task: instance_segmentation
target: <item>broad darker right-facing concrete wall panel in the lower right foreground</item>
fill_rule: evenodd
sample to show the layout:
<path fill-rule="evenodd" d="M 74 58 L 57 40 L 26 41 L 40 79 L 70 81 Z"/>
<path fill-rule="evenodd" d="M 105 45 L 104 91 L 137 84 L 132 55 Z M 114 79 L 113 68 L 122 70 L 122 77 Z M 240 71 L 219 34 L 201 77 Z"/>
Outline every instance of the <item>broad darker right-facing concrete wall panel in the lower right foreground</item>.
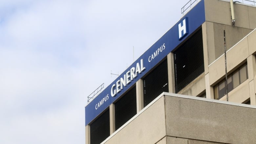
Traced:
<path fill-rule="evenodd" d="M 254 108 L 165 96 L 166 134 L 219 143 L 255 144 L 255 112 Z"/>

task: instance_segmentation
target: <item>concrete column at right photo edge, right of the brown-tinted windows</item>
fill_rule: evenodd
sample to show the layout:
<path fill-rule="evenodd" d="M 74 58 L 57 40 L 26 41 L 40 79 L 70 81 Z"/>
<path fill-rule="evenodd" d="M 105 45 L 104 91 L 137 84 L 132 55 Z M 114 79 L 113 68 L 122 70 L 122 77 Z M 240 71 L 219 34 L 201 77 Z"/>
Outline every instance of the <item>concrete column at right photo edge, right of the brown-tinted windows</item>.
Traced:
<path fill-rule="evenodd" d="M 256 95 L 255 95 L 255 82 L 254 77 L 256 75 L 256 58 L 255 55 L 250 55 L 247 58 L 247 70 L 249 79 L 249 90 L 250 90 L 250 101 L 251 105 L 256 105 Z"/>

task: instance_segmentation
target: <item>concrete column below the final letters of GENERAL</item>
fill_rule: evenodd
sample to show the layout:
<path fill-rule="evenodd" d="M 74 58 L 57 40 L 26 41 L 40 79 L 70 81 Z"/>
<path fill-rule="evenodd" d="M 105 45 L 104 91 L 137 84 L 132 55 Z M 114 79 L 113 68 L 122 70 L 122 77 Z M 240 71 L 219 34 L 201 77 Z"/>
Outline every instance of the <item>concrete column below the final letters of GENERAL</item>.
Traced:
<path fill-rule="evenodd" d="M 137 99 L 137 113 L 144 108 L 143 103 L 143 80 L 139 79 L 136 82 L 136 99 Z"/>

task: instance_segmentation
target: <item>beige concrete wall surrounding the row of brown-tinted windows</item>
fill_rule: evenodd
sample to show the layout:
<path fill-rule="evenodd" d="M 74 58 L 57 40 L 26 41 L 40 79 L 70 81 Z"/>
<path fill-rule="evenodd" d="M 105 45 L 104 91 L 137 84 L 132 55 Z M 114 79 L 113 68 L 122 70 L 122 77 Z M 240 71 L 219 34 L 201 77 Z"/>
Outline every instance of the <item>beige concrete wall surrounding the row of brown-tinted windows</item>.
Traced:
<path fill-rule="evenodd" d="M 229 101 L 243 103 L 245 100 L 250 98 L 252 100 L 251 104 L 256 104 L 255 96 L 255 76 L 256 76 L 256 31 L 251 32 L 248 36 L 243 38 L 239 43 L 233 46 L 227 51 L 227 72 L 228 74 L 235 71 L 242 64 L 247 62 L 248 67 L 248 79 L 245 80 L 238 87 L 229 92 Z M 210 89 L 216 85 L 219 81 L 224 79 L 225 76 L 225 61 L 224 55 L 219 57 L 214 63 L 209 67 L 209 85 Z M 253 92 L 254 91 L 254 92 Z M 211 92 L 211 90 L 206 90 L 206 92 Z M 211 94 L 212 95 L 212 94 Z M 226 96 L 222 97 L 220 100 L 226 100 Z"/>

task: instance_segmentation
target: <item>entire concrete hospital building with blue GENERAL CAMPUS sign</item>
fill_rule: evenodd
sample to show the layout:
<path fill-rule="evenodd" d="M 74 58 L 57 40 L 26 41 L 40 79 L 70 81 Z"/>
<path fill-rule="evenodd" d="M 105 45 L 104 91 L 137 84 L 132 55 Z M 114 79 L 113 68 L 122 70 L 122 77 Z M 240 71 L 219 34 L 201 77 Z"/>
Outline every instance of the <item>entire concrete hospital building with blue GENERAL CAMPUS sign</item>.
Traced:
<path fill-rule="evenodd" d="M 229 1 L 199 1 L 94 98 L 86 144 L 255 144 L 256 7 L 233 5 L 234 25 Z"/>

